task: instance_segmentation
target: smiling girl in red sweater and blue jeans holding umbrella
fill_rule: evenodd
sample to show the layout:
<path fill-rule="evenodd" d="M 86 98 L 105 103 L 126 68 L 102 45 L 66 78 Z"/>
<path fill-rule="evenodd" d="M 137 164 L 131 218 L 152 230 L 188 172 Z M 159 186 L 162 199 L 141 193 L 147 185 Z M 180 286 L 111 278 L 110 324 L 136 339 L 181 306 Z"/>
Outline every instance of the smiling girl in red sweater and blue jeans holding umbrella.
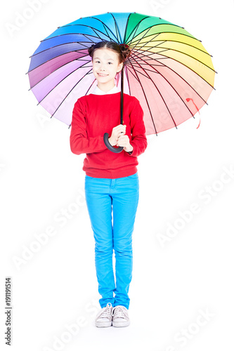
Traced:
<path fill-rule="evenodd" d="M 95 239 L 98 292 L 102 296 L 96 326 L 128 326 L 132 232 L 139 197 L 136 166 L 137 157 L 148 143 L 143 110 L 134 96 L 124 93 L 125 124 L 119 124 L 121 93 L 115 77 L 131 55 L 129 47 L 100 41 L 89 48 L 89 55 L 97 86 L 74 104 L 70 147 L 74 154 L 86 154 L 82 168 L 86 172 L 85 197 Z M 105 146 L 104 133 L 110 135 L 110 145 L 124 147 L 122 152 L 112 152 Z"/>

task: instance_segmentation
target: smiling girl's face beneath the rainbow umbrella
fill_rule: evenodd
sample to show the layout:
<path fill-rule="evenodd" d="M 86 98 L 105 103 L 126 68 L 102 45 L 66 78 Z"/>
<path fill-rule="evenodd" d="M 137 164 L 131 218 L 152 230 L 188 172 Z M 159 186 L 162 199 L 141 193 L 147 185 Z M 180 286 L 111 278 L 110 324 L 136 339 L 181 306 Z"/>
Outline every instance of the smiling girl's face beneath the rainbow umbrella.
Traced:
<path fill-rule="evenodd" d="M 93 52 L 93 74 L 99 86 L 115 84 L 115 76 L 121 71 L 123 62 L 119 63 L 118 54 L 110 48 L 96 48 Z"/>

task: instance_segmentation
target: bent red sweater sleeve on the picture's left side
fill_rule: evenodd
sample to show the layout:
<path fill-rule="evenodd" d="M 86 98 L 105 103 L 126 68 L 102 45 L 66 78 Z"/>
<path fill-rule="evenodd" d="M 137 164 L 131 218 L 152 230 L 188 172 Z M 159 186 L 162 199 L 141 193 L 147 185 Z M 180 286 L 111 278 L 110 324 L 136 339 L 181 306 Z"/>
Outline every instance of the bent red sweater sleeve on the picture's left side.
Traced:
<path fill-rule="evenodd" d="M 84 107 L 78 99 L 72 111 L 70 148 L 73 154 L 90 154 L 106 150 L 103 136 L 87 137 Z"/>

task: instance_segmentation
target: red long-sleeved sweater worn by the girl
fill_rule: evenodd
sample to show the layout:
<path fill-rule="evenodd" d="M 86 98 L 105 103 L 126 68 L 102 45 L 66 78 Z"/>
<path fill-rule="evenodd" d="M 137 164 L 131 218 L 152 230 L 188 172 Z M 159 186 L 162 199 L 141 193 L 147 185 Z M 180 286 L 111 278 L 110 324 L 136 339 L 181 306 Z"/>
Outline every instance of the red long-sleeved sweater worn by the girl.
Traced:
<path fill-rule="evenodd" d="M 112 133 L 120 124 L 120 92 L 84 95 L 74 104 L 70 133 L 70 147 L 74 154 L 86 153 L 83 171 L 94 178 L 121 178 L 137 172 L 137 157 L 148 143 L 145 136 L 143 110 L 134 96 L 124 93 L 123 124 L 134 148 L 129 154 L 112 152 L 105 146 L 103 135 Z M 116 147 L 116 145 L 115 145 Z"/>

